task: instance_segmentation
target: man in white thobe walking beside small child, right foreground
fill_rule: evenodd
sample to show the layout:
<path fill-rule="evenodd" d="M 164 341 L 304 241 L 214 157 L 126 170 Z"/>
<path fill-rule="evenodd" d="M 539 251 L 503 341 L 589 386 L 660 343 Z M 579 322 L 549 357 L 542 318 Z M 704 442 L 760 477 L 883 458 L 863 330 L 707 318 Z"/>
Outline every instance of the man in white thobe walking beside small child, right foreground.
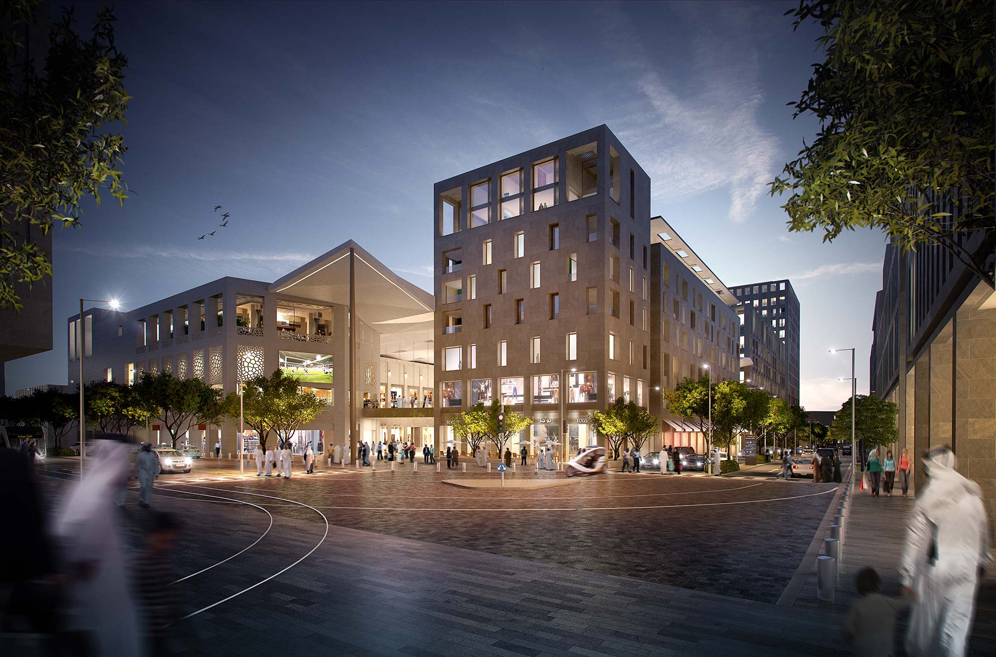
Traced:
<path fill-rule="evenodd" d="M 911 657 L 962 657 L 979 579 L 989 563 L 989 527 L 980 489 L 957 472 L 944 447 L 923 457 L 928 481 L 917 495 L 899 580 L 916 593 L 906 633 Z"/>

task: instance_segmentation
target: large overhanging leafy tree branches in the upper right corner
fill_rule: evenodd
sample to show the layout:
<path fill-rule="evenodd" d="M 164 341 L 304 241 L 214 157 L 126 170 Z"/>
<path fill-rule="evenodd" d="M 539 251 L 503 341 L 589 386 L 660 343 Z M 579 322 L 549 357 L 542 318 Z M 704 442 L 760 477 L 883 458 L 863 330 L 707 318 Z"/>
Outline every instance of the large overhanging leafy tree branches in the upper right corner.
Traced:
<path fill-rule="evenodd" d="M 789 230 L 878 228 L 903 250 L 942 247 L 993 287 L 978 255 L 996 237 L 992 3 L 802 0 L 787 13 L 823 26 L 826 53 L 789 104 L 820 131 L 771 183 L 791 193 Z M 977 230 L 988 246 L 972 252 Z"/>

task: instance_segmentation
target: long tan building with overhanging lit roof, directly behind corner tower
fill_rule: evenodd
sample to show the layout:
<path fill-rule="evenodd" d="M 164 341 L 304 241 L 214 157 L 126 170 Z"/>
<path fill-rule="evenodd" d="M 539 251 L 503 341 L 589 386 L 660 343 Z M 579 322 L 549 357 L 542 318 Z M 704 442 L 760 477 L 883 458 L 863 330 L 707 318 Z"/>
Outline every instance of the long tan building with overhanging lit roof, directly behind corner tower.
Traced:
<path fill-rule="evenodd" d="M 691 445 L 701 452 L 707 448 L 702 427 L 669 413 L 662 392 L 685 378 L 737 377 L 736 300 L 661 217 L 650 220 L 650 242 L 650 412 L 661 418 L 661 431 L 648 449 Z"/>

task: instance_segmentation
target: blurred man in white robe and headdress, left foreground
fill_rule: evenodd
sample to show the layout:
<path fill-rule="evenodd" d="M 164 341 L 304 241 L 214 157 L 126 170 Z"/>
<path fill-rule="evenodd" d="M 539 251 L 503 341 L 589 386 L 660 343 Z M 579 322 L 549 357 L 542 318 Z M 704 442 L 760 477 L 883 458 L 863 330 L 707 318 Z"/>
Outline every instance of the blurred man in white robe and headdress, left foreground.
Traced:
<path fill-rule="evenodd" d="M 115 505 L 128 470 L 124 442 L 99 440 L 93 464 L 56 525 L 69 559 L 69 626 L 90 633 L 101 657 L 140 654 Z"/>

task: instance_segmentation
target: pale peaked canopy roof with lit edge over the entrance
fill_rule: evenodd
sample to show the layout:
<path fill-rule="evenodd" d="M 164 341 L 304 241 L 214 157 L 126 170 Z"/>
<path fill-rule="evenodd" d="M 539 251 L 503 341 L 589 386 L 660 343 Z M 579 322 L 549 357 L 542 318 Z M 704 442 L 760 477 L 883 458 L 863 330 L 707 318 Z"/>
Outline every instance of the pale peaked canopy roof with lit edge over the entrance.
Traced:
<path fill-rule="evenodd" d="M 350 250 L 356 277 L 356 314 L 380 333 L 380 352 L 432 362 L 432 295 L 394 274 L 350 240 L 299 267 L 270 291 L 331 304 L 350 304 Z"/>

